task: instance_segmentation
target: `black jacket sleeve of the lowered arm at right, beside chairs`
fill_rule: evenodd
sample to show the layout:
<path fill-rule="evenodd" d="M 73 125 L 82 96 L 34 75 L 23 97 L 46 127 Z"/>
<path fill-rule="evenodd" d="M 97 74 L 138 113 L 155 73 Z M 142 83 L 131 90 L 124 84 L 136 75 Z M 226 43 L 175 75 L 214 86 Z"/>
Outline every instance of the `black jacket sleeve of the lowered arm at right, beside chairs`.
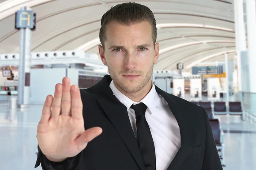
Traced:
<path fill-rule="evenodd" d="M 223 170 L 218 150 L 214 141 L 212 127 L 209 122 L 209 117 L 204 108 L 205 123 L 206 123 L 206 140 L 204 149 L 204 161 L 202 170 Z"/>

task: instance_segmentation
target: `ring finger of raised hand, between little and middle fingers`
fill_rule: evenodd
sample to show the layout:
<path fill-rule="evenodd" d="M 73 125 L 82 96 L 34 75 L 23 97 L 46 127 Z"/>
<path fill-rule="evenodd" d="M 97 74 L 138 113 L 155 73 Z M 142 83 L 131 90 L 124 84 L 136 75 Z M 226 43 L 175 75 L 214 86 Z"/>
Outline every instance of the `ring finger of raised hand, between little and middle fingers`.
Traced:
<path fill-rule="evenodd" d="M 62 84 L 55 85 L 54 97 L 52 102 L 52 118 L 56 118 L 61 113 Z"/>

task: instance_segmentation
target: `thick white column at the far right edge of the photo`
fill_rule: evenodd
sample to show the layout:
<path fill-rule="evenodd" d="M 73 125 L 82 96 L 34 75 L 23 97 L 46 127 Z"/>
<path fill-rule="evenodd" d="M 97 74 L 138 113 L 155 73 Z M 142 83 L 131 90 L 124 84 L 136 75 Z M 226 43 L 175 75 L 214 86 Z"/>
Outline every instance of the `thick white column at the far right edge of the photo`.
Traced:
<path fill-rule="evenodd" d="M 247 42 L 250 93 L 256 93 L 256 4 L 255 0 L 246 0 Z"/>

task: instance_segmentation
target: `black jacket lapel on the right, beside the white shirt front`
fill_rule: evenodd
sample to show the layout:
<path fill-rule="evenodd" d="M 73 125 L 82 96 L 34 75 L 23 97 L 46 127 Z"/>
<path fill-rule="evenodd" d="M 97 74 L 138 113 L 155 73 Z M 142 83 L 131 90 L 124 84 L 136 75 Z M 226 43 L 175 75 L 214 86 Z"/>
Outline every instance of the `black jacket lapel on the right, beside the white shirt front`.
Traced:
<path fill-rule="evenodd" d="M 174 99 L 171 98 L 169 94 L 167 94 L 165 91 L 162 91 L 157 86 L 156 91 L 166 100 L 180 127 L 181 147 L 167 169 L 178 170 L 192 149 L 193 127 L 191 122 L 189 122 L 189 118 L 183 114 L 186 111 L 184 111 L 182 105 L 178 104 Z"/>

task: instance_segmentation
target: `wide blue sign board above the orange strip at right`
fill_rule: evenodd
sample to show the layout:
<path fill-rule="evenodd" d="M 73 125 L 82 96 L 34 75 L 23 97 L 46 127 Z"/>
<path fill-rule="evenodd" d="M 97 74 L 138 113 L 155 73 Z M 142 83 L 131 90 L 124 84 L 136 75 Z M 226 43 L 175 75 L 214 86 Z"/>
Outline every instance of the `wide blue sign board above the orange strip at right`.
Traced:
<path fill-rule="evenodd" d="M 192 67 L 192 74 L 223 74 L 223 67 L 222 65 Z"/>

